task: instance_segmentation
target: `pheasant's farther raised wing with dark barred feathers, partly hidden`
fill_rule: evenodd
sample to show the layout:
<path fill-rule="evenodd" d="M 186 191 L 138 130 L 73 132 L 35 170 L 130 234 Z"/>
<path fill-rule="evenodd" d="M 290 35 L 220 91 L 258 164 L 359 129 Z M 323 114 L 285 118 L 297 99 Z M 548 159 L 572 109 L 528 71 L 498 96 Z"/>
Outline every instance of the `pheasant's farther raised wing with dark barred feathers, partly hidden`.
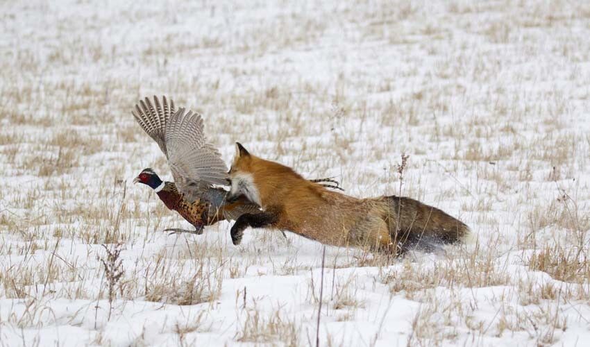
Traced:
<path fill-rule="evenodd" d="M 174 101 L 170 100 L 168 103 L 166 96 L 162 96 L 162 103 L 156 96 L 153 96 L 153 104 L 149 98 L 146 98 L 145 101 L 140 100 L 140 103 L 135 105 L 135 110 L 132 111 L 137 123 L 160 146 L 166 158 L 168 158 L 166 126 L 168 119 L 175 112 Z"/>

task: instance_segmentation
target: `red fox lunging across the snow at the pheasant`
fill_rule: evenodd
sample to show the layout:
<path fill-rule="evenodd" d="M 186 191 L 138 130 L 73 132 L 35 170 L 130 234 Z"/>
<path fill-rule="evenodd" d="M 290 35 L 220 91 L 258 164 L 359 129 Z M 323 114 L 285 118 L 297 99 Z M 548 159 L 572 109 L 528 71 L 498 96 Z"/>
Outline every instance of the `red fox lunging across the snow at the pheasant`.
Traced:
<path fill-rule="evenodd" d="M 401 196 L 355 198 L 330 191 L 283 164 L 251 155 L 239 143 L 229 175 L 228 200 L 246 196 L 263 211 L 237 218 L 231 228 L 236 245 L 248 226 L 395 254 L 416 246 L 457 242 L 469 235 L 462 221 L 437 208 Z"/>

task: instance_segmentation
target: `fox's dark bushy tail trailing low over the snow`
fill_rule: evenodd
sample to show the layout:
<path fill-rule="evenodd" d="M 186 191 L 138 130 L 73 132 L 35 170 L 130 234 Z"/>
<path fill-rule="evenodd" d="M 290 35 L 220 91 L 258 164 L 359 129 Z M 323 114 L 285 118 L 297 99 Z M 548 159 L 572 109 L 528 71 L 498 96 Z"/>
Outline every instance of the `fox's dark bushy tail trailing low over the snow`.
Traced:
<path fill-rule="evenodd" d="M 404 196 L 387 196 L 387 201 L 389 232 L 402 249 L 433 250 L 438 244 L 457 242 L 469 235 L 465 223 L 438 208 Z"/>

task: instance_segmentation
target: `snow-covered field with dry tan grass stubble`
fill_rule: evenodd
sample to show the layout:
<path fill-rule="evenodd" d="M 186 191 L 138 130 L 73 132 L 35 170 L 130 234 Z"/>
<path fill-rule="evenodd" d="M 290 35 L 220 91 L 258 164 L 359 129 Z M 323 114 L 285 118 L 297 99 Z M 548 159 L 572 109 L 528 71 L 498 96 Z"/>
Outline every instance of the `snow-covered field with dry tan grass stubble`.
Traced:
<path fill-rule="evenodd" d="M 315 345 L 320 302 L 321 346 L 588 343 L 587 1 L 2 1 L 0 19 L 0 345 Z M 226 162 L 239 141 L 354 196 L 401 189 L 474 240 L 328 247 L 322 270 L 289 233 L 169 237 L 187 223 L 130 184 L 171 179 L 130 114 L 153 94 L 202 112 Z"/>

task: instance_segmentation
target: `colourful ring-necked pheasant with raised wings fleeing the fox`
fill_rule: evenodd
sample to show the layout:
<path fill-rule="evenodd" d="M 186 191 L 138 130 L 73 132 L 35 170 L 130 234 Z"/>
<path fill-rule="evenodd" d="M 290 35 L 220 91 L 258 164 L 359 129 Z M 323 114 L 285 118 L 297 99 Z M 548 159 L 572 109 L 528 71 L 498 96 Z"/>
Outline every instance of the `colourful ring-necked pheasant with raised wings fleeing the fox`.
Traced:
<path fill-rule="evenodd" d="M 160 146 L 166 156 L 173 182 L 165 182 L 151 168 L 146 168 L 133 180 L 153 189 L 169 210 L 174 210 L 194 226 L 194 230 L 169 228 L 171 234 L 203 233 L 224 219 L 235 220 L 244 213 L 256 214 L 260 208 L 244 196 L 228 202 L 229 194 L 223 187 L 229 185 L 225 162 L 217 149 L 209 144 L 203 132 L 203 118 L 199 113 L 174 108 L 174 101 L 154 96 L 135 105 L 133 117 L 142 129 Z M 313 180 L 326 187 L 342 189 L 332 178 Z"/>

